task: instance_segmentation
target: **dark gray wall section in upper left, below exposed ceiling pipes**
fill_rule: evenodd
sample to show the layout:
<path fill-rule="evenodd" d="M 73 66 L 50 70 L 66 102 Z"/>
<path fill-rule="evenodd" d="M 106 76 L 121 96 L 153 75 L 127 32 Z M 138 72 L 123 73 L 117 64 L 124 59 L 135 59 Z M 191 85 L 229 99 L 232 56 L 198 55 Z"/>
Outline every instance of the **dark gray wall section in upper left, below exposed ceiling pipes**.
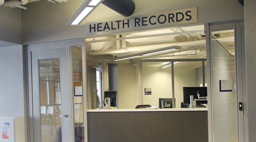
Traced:
<path fill-rule="evenodd" d="M 0 13 L 0 40 L 22 44 L 22 10 L 3 5 Z"/>

